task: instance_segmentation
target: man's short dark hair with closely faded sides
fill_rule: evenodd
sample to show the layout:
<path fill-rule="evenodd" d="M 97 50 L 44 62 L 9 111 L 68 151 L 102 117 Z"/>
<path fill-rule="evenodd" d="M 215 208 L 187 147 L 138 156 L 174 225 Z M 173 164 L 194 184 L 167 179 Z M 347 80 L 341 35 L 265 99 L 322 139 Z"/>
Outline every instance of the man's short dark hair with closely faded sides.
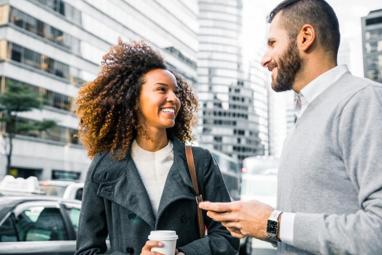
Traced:
<path fill-rule="evenodd" d="M 336 13 L 328 3 L 324 0 L 285 0 L 269 13 L 267 22 L 272 22 L 280 11 L 281 26 L 290 38 L 296 38 L 303 25 L 310 24 L 322 48 L 337 60 L 340 27 Z"/>

